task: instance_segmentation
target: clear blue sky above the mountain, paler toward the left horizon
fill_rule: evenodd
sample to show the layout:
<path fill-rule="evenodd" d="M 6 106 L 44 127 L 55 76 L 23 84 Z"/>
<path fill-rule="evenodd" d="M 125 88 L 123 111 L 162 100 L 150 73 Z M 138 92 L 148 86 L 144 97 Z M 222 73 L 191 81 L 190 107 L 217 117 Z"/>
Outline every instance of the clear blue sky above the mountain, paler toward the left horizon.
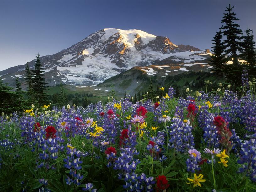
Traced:
<path fill-rule="evenodd" d="M 256 34 L 256 0 L 0 0 L 0 70 L 38 52 L 57 53 L 103 28 L 139 29 L 208 49 L 229 3 L 241 29 Z"/>

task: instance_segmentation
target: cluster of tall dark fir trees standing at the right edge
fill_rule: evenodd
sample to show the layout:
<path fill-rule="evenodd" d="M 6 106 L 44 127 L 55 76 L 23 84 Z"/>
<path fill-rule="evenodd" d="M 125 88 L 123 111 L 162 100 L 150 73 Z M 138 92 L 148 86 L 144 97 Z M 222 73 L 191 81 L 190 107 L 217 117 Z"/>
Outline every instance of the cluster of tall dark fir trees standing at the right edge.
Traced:
<path fill-rule="evenodd" d="M 236 13 L 229 4 L 213 41 L 212 72 L 226 79 L 233 90 L 242 86 L 242 73 L 249 77 L 256 74 L 256 49 L 253 32 L 249 27 L 243 31 L 236 22 Z"/>

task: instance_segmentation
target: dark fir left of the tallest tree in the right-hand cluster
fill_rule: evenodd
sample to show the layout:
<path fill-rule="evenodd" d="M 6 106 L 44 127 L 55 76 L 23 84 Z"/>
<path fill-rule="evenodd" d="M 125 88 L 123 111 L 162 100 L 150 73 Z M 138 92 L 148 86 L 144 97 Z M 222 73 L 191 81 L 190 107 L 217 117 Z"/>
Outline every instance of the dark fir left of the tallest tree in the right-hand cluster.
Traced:
<path fill-rule="evenodd" d="M 222 27 L 221 27 L 222 28 Z M 212 63 L 211 65 L 213 66 L 213 68 L 211 68 L 211 71 L 212 72 L 215 72 L 216 75 L 218 76 L 222 76 L 223 75 L 223 69 L 224 69 L 224 65 L 225 65 L 225 62 L 224 62 L 224 45 L 223 43 L 221 42 L 221 39 L 222 39 L 222 32 L 221 32 L 221 28 L 220 30 L 216 33 L 216 35 L 214 36 L 213 38 L 213 50 L 212 50 L 212 56 L 211 56 L 211 59 L 212 59 Z"/>

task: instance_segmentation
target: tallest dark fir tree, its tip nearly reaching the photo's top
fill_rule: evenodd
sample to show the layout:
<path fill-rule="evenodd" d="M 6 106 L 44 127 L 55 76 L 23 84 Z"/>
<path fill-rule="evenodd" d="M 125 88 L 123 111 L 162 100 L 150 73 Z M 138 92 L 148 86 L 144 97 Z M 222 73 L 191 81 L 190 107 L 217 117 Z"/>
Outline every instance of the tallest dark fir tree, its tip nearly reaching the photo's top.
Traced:
<path fill-rule="evenodd" d="M 226 23 L 226 25 L 222 28 L 224 29 L 223 34 L 226 36 L 224 40 L 225 54 L 227 56 L 226 60 L 233 61 L 234 65 L 239 65 L 238 57 L 242 53 L 242 36 L 243 32 L 241 29 L 238 29 L 240 25 L 235 23 L 239 19 L 236 18 L 236 13 L 232 12 L 233 7 L 226 7 L 227 13 L 224 13 L 223 19 L 221 23 Z"/>

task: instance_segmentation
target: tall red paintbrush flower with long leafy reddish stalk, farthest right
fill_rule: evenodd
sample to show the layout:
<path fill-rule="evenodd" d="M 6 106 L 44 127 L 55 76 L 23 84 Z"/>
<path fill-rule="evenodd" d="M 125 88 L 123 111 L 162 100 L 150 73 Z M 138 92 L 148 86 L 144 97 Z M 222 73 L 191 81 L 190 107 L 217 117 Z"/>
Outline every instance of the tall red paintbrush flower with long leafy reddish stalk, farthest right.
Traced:
<path fill-rule="evenodd" d="M 228 122 L 221 116 L 214 117 L 213 124 L 216 126 L 216 130 L 218 131 L 218 135 L 220 137 L 219 142 L 226 149 L 227 153 L 232 149 L 232 144 L 230 138 L 232 137 L 232 133 L 229 130 Z"/>

